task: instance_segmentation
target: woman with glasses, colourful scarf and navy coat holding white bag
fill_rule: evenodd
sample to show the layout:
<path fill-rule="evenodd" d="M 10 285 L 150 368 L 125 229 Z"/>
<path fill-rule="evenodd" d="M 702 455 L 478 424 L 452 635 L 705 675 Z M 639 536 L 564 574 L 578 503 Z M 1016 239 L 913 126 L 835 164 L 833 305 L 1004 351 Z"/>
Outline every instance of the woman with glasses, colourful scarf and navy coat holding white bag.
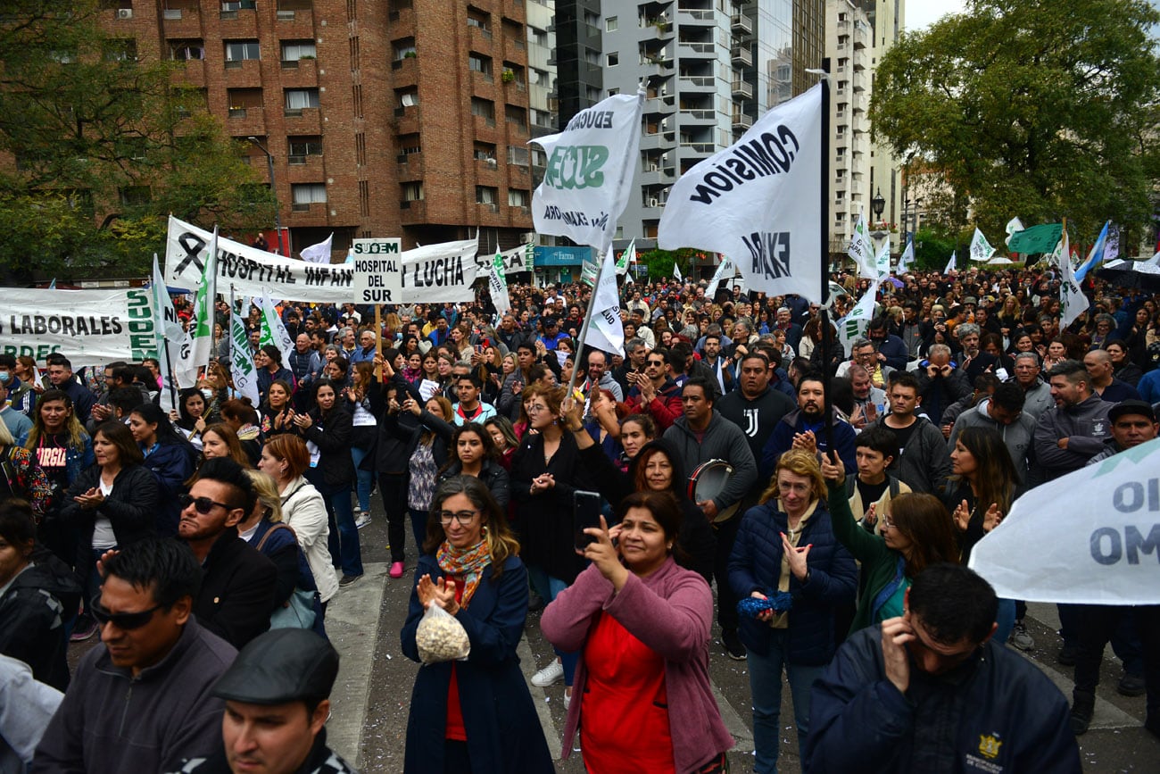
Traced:
<path fill-rule="evenodd" d="M 479 478 L 440 484 L 400 639 L 418 661 L 427 608 L 463 625 L 471 654 L 419 670 L 407 718 L 405 774 L 550 774 L 556 771 L 520 670 L 528 572 L 502 508 Z"/>

